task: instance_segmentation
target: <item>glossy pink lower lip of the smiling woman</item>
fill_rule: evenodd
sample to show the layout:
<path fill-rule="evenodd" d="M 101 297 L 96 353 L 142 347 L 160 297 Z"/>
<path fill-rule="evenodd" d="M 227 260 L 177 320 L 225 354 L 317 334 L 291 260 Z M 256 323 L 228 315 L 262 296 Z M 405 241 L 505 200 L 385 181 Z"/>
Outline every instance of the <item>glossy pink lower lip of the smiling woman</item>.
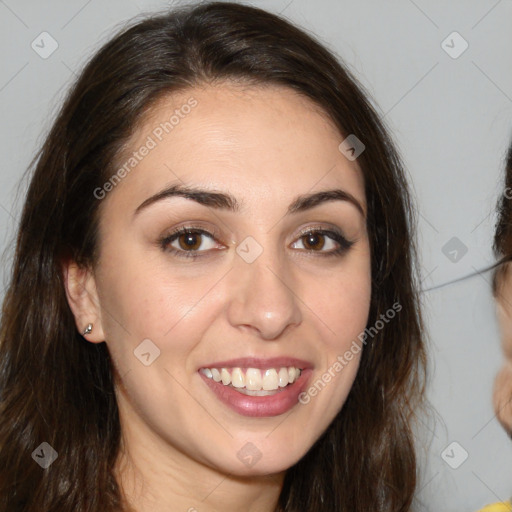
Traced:
<path fill-rule="evenodd" d="M 249 396 L 236 391 L 231 386 L 224 386 L 222 382 L 215 382 L 199 372 L 205 383 L 215 393 L 217 398 L 238 414 L 243 416 L 266 417 L 279 416 L 288 412 L 299 403 L 299 395 L 306 387 L 311 369 L 302 370 L 300 377 L 288 384 L 282 391 L 268 396 Z"/>

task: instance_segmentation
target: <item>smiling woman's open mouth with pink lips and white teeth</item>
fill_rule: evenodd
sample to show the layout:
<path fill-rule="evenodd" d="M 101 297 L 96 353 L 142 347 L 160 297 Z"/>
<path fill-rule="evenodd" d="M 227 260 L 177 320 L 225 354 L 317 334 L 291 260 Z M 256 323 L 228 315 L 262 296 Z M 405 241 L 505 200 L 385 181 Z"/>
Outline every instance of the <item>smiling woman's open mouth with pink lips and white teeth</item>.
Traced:
<path fill-rule="evenodd" d="M 241 358 L 199 368 L 214 395 L 243 416 L 277 416 L 299 403 L 312 365 L 295 358 Z"/>

